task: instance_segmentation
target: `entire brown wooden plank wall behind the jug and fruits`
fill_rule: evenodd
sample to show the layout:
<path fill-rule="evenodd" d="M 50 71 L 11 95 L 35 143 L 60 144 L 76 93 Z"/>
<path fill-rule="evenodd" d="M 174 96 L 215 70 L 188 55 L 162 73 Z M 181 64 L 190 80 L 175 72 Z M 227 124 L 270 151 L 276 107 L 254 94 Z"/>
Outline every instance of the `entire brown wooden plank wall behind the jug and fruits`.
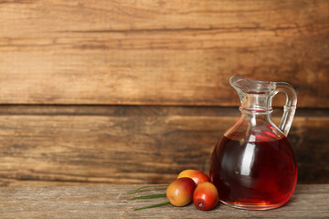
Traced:
<path fill-rule="evenodd" d="M 328 11 L 321 0 L 0 0 L 0 186 L 207 172 L 239 116 L 231 75 L 292 84 L 299 182 L 329 183 Z"/>

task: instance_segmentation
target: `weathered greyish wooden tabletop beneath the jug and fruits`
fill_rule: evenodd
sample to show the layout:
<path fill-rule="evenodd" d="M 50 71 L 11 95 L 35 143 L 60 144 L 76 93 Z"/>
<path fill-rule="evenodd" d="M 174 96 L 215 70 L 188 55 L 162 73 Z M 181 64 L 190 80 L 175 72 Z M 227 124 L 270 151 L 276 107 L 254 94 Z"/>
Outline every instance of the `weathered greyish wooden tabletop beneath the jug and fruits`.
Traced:
<path fill-rule="evenodd" d="M 133 211 L 166 201 L 166 198 L 130 201 L 134 196 L 165 191 L 163 187 L 129 194 L 139 186 L 1 188 L 0 218 L 329 218 L 329 184 L 297 185 L 292 199 L 279 209 L 247 211 L 219 204 L 208 212 L 196 210 L 193 204 Z"/>

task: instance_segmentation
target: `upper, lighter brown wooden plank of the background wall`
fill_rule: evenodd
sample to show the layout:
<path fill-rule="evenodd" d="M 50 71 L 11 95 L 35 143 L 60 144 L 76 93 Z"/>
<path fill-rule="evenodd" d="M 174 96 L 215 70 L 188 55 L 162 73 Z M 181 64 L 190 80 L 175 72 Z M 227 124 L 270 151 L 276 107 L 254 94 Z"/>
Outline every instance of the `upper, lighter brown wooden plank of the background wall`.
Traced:
<path fill-rule="evenodd" d="M 328 108 L 329 3 L 0 1 L 0 103 L 238 105 L 231 75 Z"/>

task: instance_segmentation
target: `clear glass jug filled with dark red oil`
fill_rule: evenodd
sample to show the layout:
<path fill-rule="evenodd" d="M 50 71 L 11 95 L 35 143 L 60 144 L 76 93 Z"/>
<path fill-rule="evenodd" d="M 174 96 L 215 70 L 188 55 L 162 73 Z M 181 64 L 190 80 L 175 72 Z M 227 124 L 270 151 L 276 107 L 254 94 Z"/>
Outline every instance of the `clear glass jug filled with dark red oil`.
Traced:
<path fill-rule="evenodd" d="M 233 76 L 241 116 L 218 141 L 211 155 L 210 181 L 219 200 L 242 209 L 266 210 L 287 203 L 297 183 L 297 164 L 286 136 L 292 125 L 297 95 L 284 82 Z M 271 100 L 278 93 L 287 101 L 279 128 L 271 120 Z"/>

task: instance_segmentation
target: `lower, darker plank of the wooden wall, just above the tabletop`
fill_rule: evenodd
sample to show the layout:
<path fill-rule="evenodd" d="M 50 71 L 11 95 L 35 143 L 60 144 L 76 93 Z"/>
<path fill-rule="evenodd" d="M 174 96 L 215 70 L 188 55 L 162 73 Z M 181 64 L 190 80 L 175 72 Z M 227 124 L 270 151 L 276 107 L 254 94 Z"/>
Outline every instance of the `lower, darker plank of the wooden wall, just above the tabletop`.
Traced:
<path fill-rule="evenodd" d="M 208 172 L 210 152 L 239 115 L 200 107 L 52 108 L 0 110 L 1 186 L 168 183 L 184 169 Z M 299 183 L 329 183 L 324 112 L 302 112 L 292 124 Z"/>

